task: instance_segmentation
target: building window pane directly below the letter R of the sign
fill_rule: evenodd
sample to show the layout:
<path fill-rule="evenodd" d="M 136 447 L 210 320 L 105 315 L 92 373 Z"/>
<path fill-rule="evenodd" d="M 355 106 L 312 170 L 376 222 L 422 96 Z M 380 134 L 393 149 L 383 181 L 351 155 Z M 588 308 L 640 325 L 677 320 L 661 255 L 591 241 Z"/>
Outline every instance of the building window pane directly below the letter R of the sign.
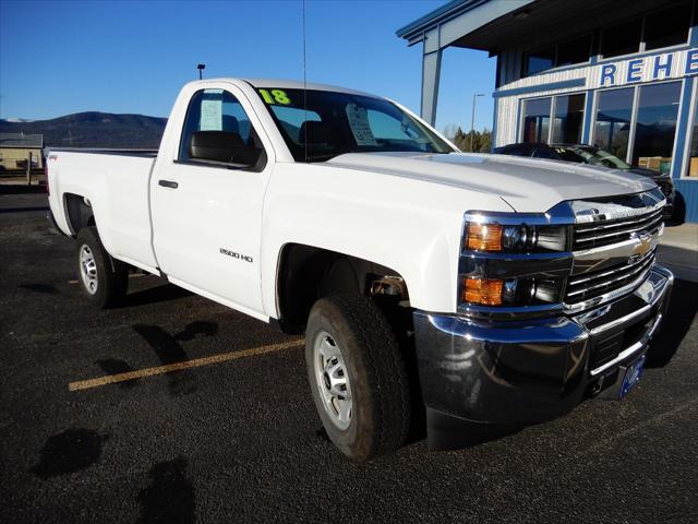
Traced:
<path fill-rule="evenodd" d="M 599 92 L 593 143 L 618 158 L 627 158 L 630 119 L 633 118 L 633 87 Z"/>

